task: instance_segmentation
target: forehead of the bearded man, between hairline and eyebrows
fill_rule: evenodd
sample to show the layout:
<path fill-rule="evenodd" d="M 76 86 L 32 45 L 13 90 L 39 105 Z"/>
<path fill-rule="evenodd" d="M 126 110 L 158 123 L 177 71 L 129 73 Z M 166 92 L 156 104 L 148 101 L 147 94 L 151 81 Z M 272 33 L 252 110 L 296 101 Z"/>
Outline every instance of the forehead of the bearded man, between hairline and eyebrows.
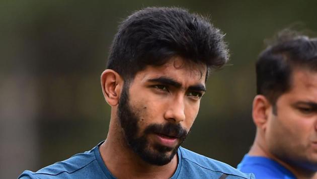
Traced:
<path fill-rule="evenodd" d="M 173 57 L 161 66 L 146 66 L 144 70 L 136 73 L 136 78 L 151 78 L 166 76 L 174 79 L 192 79 L 205 81 L 207 67 L 205 64 L 197 64 L 182 57 Z"/>

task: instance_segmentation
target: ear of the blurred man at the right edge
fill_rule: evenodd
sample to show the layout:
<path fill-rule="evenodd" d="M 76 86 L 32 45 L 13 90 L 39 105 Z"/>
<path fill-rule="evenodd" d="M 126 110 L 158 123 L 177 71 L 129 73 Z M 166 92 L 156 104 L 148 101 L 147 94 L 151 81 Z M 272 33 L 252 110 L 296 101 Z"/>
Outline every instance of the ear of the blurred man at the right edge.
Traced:
<path fill-rule="evenodd" d="M 263 95 L 257 95 L 253 100 L 252 117 L 258 129 L 266 130 L 271 103 Z"/>

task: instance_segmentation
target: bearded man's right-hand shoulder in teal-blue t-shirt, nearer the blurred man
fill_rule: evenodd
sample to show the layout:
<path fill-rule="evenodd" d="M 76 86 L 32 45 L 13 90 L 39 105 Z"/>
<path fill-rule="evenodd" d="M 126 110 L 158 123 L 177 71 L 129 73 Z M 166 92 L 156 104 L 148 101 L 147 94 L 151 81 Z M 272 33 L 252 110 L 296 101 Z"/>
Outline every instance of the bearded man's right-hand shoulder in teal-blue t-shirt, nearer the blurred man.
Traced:
<path fill-rule="evenodd" d="M 232 166 L 193 151 L 180 147 L 182 167 L 187 171 L 205 173 L 208 176 L 227 175 L 227 178 L 254 178 L 253 174 L 243 173 Z"/>

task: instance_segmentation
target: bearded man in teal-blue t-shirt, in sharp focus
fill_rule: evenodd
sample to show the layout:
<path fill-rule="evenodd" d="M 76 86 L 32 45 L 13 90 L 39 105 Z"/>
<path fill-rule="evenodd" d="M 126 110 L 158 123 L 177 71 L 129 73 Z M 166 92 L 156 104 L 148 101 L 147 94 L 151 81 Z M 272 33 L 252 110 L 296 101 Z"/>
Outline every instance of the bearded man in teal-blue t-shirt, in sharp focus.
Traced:
<path fill-rule="evenodd" d="M 111 106 L 107 139 L 21 178 L 252 178 L 180 147 L 210 68 L 228 58 L 223 35 L 178 8 L 145 8 L 119 27 L 101 75 Z"/>

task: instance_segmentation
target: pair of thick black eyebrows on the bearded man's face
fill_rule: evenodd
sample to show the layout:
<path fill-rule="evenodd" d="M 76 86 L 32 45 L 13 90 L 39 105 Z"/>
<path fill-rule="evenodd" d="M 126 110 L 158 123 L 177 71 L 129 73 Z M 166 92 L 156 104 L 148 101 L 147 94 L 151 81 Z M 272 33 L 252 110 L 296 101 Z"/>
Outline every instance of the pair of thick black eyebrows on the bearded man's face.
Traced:
<path fill-rule="evenodd" d="M 182 84 L 172 78 L 169 77 L 158 77 L 158 78 L 152 78 L 152 79 L 148 79 L 147 81 L 150 82 L 159 82 L 165 85 L 170 85 L 170 86 L 174 86 L 176 88 L 181 88 Z M 190 91 L 202 91 L 205 92 L 206 91 L 206 87 L 203 84 L 195 84 L 195 85 L 191 85 L 188 87 L 188 90 Z"/>

